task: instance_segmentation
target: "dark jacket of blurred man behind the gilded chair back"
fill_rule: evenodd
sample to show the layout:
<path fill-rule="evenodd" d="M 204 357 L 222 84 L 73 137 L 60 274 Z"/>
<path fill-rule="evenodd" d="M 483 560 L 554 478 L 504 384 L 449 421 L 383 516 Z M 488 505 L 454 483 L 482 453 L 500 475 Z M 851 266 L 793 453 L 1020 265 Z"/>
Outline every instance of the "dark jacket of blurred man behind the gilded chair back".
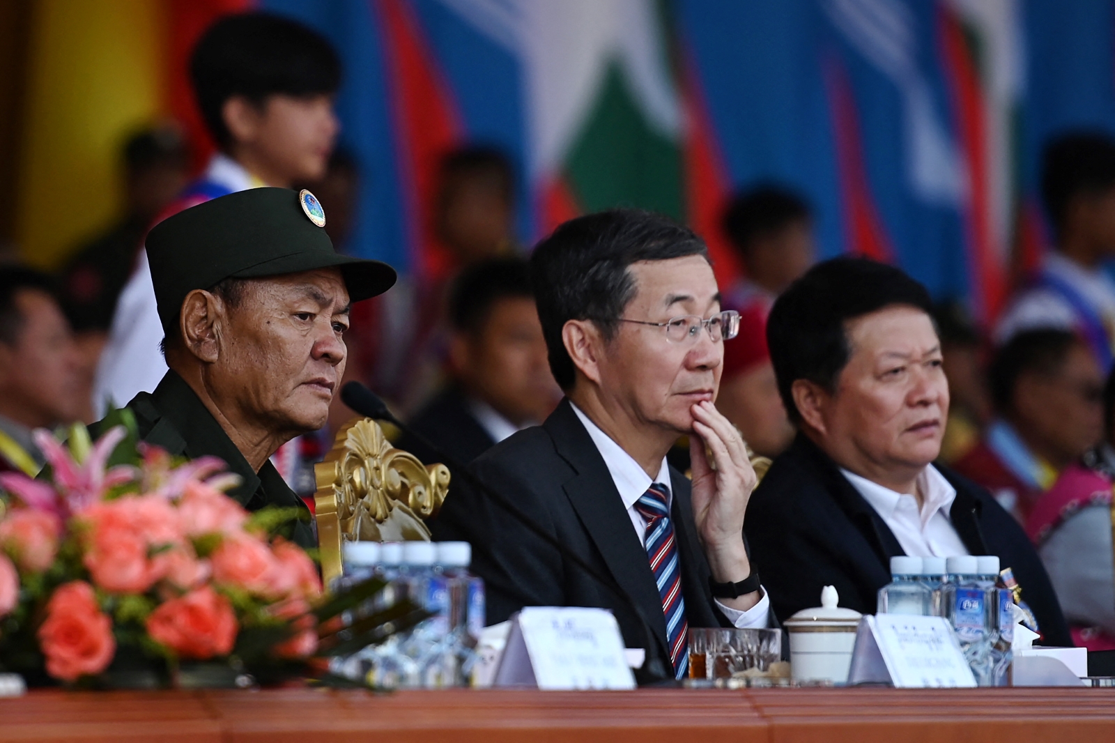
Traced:
<path fill-rule="evenodd" d="M 473 417 L 464 394 L 456 387 L 435 395 L 419 408 L 408 425 L 463 464 L 468 464 L 495 444 L 484 426 Z M 396 446 L 410 452 L 423 464 L 434 464 L 443 459 L 407 434 L 396 442 Z"/>

